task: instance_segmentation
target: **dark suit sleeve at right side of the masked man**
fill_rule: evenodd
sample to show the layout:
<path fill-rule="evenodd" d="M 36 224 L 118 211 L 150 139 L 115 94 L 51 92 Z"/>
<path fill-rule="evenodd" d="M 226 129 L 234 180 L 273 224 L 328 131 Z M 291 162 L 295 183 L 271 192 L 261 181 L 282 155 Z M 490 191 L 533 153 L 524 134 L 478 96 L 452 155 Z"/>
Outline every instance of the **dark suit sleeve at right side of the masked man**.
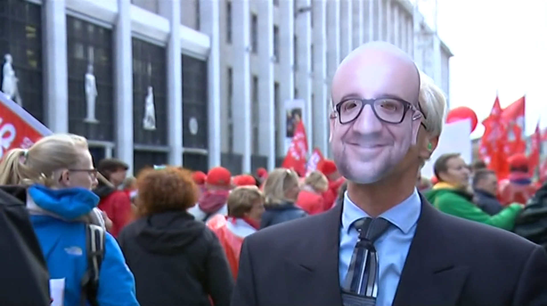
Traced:
<path fill-rule="evenodd" d="M 537 246 L 531 252 L 515 290 L 513 306 L 547 305 L 547 252 Z"/>

